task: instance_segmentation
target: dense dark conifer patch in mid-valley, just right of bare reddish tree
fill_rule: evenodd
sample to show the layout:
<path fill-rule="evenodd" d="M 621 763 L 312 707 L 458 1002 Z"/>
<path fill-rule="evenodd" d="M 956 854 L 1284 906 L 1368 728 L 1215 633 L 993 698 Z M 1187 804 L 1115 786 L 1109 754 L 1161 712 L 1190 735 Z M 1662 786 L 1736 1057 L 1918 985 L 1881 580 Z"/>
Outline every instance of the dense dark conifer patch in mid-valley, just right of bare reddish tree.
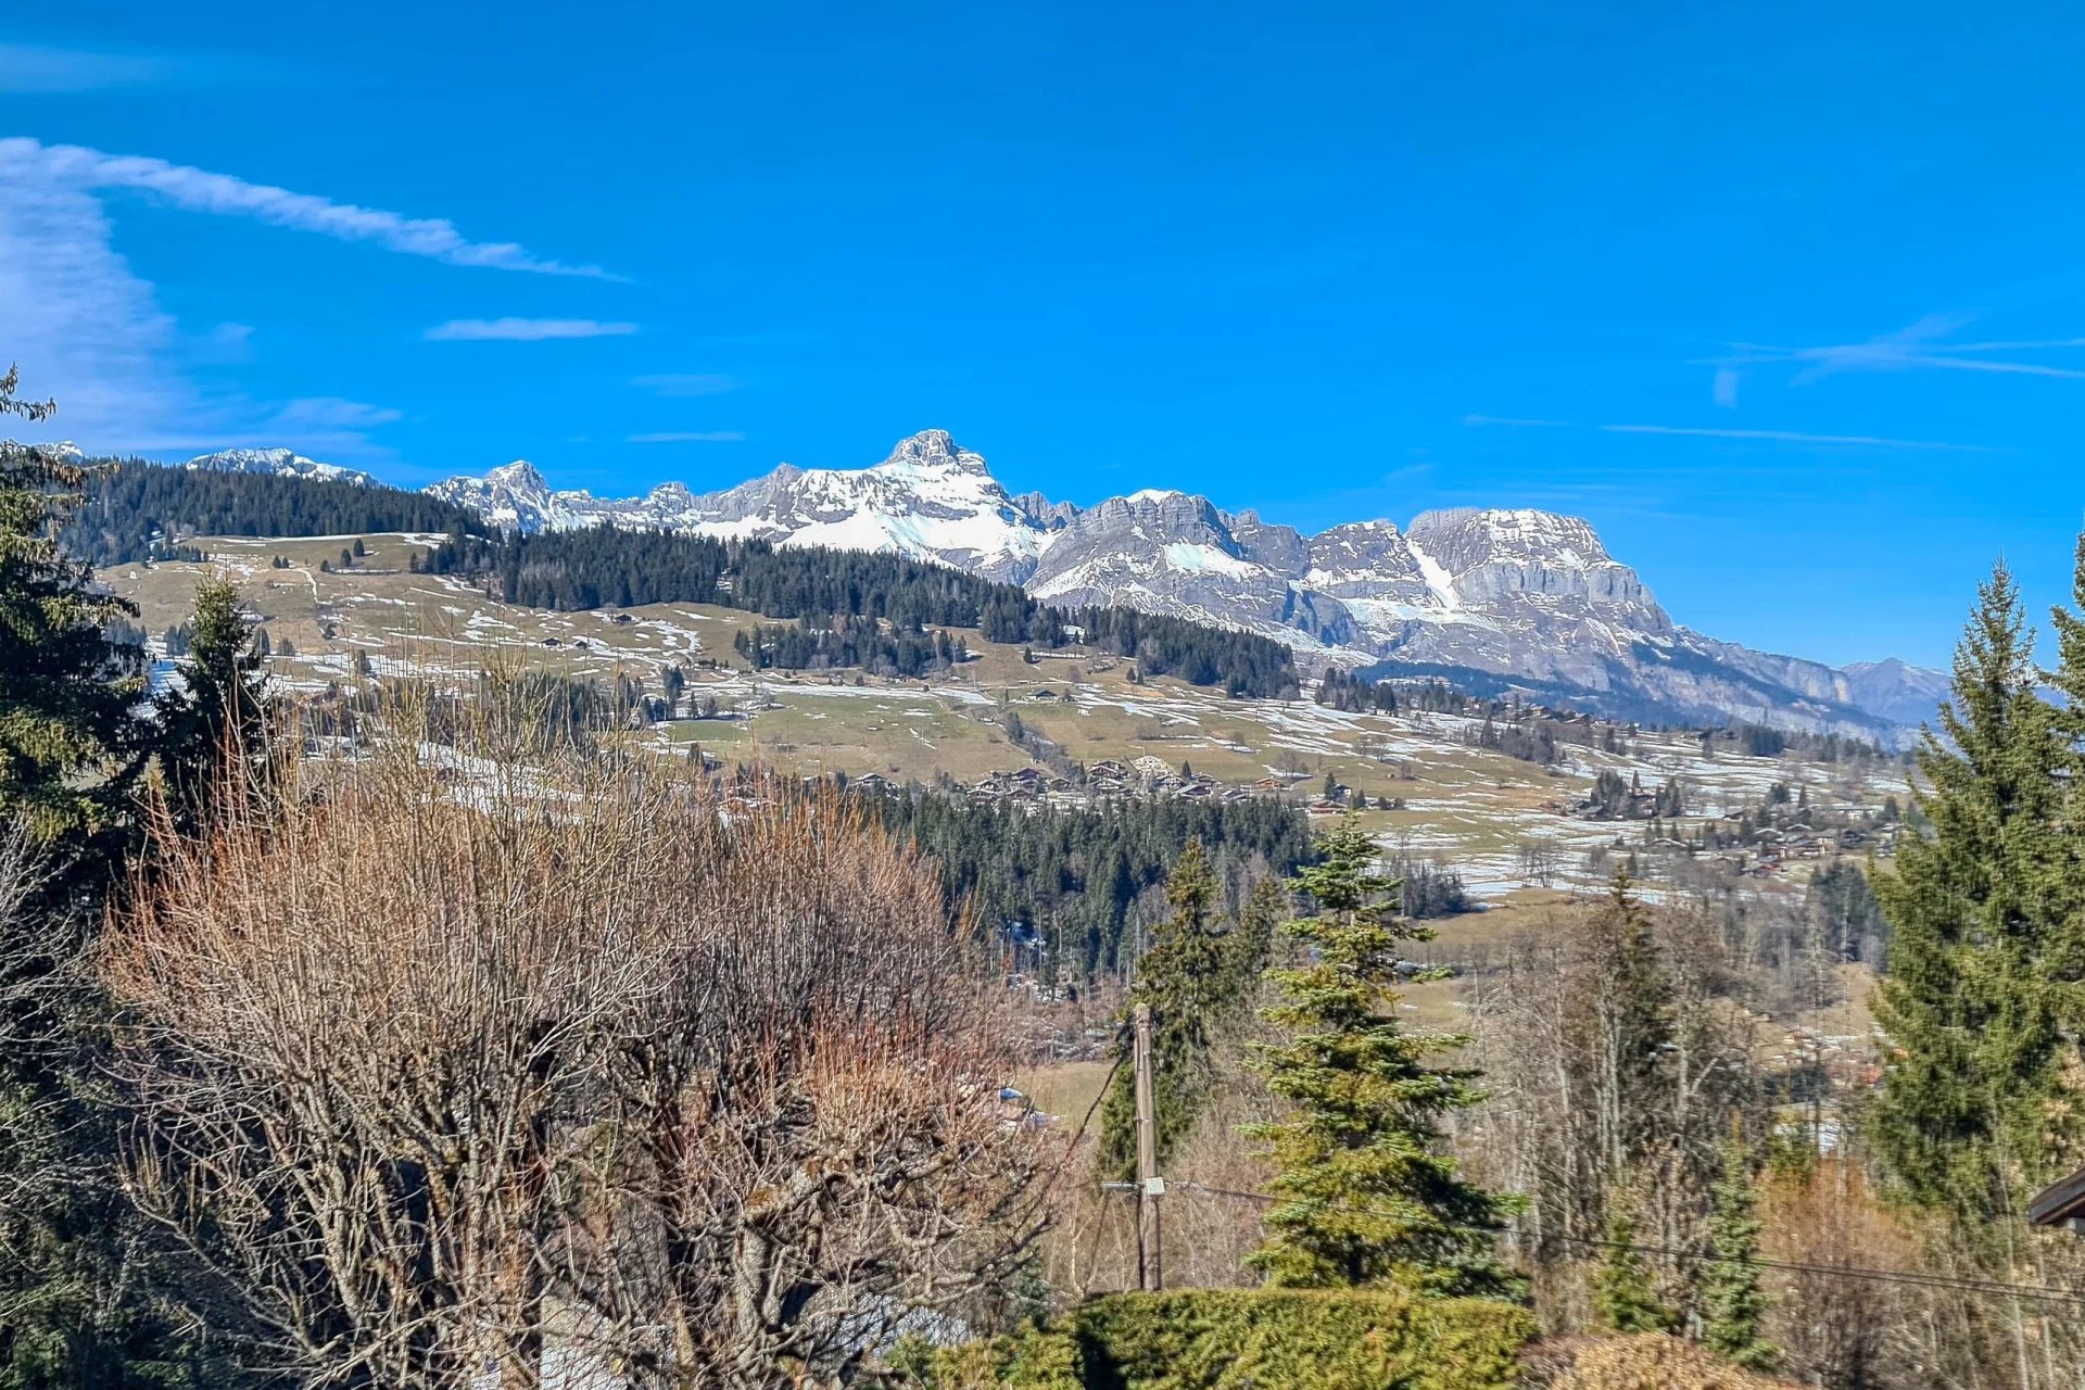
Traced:
<path fill-rule="evenodd" d="M 909 788 L 865 800 L 878 821 L 940 863 L 951 898 L 992 932 L 1038 938 L 1045 971 L 1065 979 L 1134 961 L 1138 934 L 1163 915 L 1157 890 L 1191 840 L 1232 888 L 1309 861 L 1305 815 L 1270 798 L 1030 811 Z"/>

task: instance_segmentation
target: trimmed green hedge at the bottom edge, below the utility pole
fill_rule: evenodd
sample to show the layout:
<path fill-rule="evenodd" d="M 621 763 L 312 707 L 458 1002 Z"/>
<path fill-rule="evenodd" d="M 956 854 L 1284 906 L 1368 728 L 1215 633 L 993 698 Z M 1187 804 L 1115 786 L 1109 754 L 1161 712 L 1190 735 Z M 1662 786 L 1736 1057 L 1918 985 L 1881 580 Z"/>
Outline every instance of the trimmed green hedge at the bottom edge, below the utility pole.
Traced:
<path fill-rule="evenodd" d="M 1061 1323 L 940 1348 L 930 1390 L 1505 1390 L 1535 1319 L 1378 1290 L 1107 1294 Z"/>

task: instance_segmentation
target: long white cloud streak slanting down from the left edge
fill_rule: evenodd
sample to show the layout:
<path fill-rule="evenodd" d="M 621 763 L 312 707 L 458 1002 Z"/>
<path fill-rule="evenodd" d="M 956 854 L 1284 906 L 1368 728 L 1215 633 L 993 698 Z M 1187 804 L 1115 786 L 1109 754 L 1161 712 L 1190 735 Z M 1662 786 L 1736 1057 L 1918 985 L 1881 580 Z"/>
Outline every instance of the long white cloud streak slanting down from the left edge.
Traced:
<path fill-rule="evenodd" d="M 102 154 L 85 146 L 46 146 L 29 138 L 0 140 L 0 181 L 42 181 L 75 190 L 136 190 L 156 194 L 190 213 L 252 217 L 342 242 L 373 242 L 407 256 L 536 275 L 619 279 L 598 265 L 567 265 L 538 256 L 515 242 L 473 242 L 446 217 L 404 217 L 315 194 L 294 194 L 271 183 L 248 183 L 227 173 L 138 154 Z"/>

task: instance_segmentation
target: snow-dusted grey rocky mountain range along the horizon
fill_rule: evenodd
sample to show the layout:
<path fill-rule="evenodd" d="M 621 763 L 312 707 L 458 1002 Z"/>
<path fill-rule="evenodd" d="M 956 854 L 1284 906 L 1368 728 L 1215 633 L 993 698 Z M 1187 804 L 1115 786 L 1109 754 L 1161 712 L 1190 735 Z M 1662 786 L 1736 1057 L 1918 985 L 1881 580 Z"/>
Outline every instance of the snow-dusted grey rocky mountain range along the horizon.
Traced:
<path fill-rule="evenodd" d="M 373 481 L 290 450 L 190 467 Z M 1947 677 L 1902 661 L 1829 667 L 1720 642 L 1672 621 L 1578 517 L 1428 511 L 1316 536 L 1145 490 L 1095 506 L 1013 496 L 947 431 L 901 440 L 865 469 L 782 465 L 721 492 L 663 483 L 636 498 L 555 490 L 525 463 L 430 494 L 523 533 L 592 527 L 894 550 L 1072 604 L 1124 604 L 1257 631 L 1305 669 L 1441 673 L 1618 717 L 1724 721 L 1902 742 Z"/>

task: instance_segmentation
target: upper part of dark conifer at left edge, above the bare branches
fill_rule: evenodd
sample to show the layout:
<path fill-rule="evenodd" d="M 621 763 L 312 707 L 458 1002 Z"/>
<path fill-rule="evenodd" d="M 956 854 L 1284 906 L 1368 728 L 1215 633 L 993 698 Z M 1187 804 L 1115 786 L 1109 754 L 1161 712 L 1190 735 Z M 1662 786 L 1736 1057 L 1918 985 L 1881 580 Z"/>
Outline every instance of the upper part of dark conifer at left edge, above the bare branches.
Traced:
<path fill-rule="evenodd" d="M 0 419 L 42 421 L 48 404 L 0 377 Z M 136 715 L 144 652 L 108 627 L 138 609 L 94 590 L 54 531 L 77 511 L 88 471 L 56 450 L 0 442 L 0 817 L 40 844 L 98 859 L 117 838 L 148 750 Z"/>

